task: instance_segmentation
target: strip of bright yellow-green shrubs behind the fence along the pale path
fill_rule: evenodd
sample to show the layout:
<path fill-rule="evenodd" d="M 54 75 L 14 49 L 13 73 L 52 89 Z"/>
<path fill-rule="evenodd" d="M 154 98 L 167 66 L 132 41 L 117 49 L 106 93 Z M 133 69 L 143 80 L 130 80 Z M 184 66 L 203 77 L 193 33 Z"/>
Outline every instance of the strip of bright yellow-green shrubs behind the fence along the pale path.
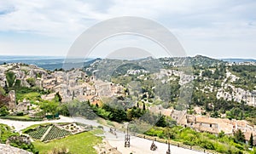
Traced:
<path fill-rule="evenodd" d="M 207 150 L 218 151 L 220 153 L 241 153 L 247 151 L 247 145 L 244 142 L 236 143 L 237 137 L 241 140 L 240 134 L 237 137 L 227 136 L 223 133 L 219 135 L 198 133 L 191 128 L 180 126 L 172 128 L 154 127 L 145 134 L 156 136 L 161 139 L 171 139 L 184 145 L 197 145 Z"/>

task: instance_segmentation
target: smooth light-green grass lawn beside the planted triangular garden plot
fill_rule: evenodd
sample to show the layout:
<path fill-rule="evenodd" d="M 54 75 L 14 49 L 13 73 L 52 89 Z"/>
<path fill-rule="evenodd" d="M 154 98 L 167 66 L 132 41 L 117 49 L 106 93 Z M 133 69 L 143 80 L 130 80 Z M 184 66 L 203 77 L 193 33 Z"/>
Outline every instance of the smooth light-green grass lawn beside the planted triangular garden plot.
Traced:
<path fill-rule="evenodd" d="M 81 134 L 74 134 L 61 140 L 53 140 L 49 143 L 43 143 L 40 141 L 33 142 L 35 148 L 38 149 L 40 154 L 47 154 L 54 148 L 66 147 L 69 152 L 73 154 L 93 154 L 96 150 L 94 145 L 102 142 L 101 137 L 97 137 L 91 132 L 84 132 Z"/>

